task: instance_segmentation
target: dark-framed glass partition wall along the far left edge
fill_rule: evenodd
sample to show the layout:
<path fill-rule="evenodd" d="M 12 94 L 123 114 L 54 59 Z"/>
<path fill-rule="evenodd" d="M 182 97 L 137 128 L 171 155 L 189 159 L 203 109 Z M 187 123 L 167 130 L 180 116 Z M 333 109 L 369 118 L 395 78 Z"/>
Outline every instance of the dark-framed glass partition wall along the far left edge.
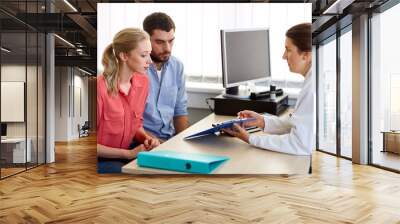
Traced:
<path fill-rule="evenodd" d="M 37 13 L 44 4 L 17 3 L 20 16 Z M 0 24 L 0 111 L 5 128 L 0 144 L 2 179 L 45 163 L 46 38 L 12 16 L 0 12 L 0 17 L 9 21 Z M 10 101 L 10 96 L 16 100 Z M 11 106 L 16 110 L 10 110 Z"/>

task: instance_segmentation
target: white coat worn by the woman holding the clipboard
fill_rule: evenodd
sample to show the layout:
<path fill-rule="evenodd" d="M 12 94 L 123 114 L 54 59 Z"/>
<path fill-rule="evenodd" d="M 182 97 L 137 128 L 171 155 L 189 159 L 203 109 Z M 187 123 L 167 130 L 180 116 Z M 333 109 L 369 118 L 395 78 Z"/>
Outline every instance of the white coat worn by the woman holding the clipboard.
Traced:
<path fill-rule="evenodd" d="M 311 69 L 291 116 L 264 116 L 264 121 L 264 132 L 268 135 L 250 135 L 251 145 L 276 152 L 311 155 L 315 148 L 315 80 Z"/>

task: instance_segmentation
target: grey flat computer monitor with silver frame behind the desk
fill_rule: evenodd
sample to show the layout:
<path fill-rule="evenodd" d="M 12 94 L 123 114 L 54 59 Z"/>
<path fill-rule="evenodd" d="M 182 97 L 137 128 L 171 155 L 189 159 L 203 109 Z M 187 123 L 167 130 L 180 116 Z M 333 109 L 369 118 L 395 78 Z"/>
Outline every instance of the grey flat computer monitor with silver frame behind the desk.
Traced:
<path fill-rule="evenodd" d="M 226 94 L 239 85 L 266 81 L 271 76 L 269 30 L 221 30 L 222 80 Z"/>

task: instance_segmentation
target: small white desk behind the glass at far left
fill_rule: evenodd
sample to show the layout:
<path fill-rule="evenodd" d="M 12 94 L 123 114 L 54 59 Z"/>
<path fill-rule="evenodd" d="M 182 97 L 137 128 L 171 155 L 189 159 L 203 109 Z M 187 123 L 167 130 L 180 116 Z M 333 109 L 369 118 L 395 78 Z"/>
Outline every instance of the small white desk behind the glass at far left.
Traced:
<path fill-rule="evenodd" d="M 25 154 L 25 138 L 1 139 L 1 153 L 2 157 L 5 158 L 7 163 L 25 163 L 25 158 L 27 158 L 26 162 L 31 161 L 32 141 L 30 138 L 28 138 L 26 142 L 28 142 L 28 147 L 26 148 Z"/>

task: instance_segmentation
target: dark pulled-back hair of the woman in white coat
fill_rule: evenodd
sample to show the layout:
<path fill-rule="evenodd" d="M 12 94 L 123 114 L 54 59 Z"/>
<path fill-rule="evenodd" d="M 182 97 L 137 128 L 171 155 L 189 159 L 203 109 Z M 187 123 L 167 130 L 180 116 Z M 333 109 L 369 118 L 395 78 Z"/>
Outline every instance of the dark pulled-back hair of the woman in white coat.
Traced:
<path fill-rule="evenodd" d="M 311 23 L 301 23 L 286 31 L 286 37 L 290 38 L 300 52 L 311 52 Z"/>

